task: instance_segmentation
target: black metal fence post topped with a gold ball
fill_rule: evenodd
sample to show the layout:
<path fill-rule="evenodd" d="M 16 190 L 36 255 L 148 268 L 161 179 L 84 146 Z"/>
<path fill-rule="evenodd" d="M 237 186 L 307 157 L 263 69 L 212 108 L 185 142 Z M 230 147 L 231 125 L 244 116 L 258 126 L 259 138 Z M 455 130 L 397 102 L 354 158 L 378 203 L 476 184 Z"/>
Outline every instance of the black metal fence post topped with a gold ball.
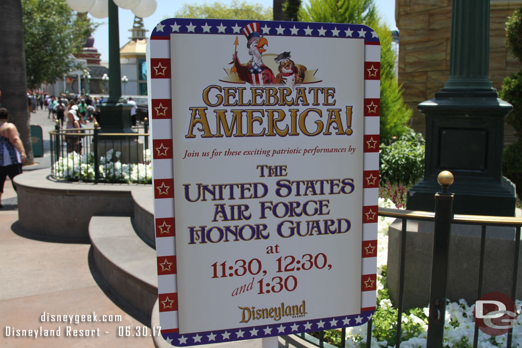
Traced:
<path fill-rule="evenodd" d="M 449 236 L 453 220 L 453 197 L 448 192 L 453 174 L 438 174 L 442 191 L 435 194 L 435 231 L 433 234 L 433 260 L 431 267 L 430 317 L 428 322 L 428 348 L 443 346 L 444 318 L 446 315 L 446 283 L 448 278 Z"/>

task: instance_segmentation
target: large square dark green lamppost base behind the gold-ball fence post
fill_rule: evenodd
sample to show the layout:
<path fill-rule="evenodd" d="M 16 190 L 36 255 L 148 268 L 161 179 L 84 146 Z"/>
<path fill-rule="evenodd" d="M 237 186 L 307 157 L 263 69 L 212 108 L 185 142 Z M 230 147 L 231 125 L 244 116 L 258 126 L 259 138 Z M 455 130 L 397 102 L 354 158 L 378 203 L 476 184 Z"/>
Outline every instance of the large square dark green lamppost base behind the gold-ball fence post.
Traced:
<path fill-rule="evenodd" d="M 448 170 L 454 213 L 515 216 L 515 187 L 502 176 L 504 116 L 512 106 L 495 90 L 443 90 L 418 107 L 426 116 L 425 169 L 408 191 L 407 209 L 434 211 L 437 175 Z"/>

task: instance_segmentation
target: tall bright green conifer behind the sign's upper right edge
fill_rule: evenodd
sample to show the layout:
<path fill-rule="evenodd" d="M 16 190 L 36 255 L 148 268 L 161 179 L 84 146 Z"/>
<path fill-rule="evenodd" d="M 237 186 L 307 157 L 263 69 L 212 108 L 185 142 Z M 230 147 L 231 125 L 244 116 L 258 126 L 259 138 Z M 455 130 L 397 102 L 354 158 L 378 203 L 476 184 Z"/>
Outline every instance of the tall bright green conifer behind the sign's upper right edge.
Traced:
<path fill-rule="evenodd" d="M 381 142 L 405 135 L 412 111 L 402 100 L 395 77 L 395 52 L 389 28 L 381 25 L 373 0 L 310 0 L 299 13 L 312 22 L 361 23 L 375 30 L 381 41 Z"/>

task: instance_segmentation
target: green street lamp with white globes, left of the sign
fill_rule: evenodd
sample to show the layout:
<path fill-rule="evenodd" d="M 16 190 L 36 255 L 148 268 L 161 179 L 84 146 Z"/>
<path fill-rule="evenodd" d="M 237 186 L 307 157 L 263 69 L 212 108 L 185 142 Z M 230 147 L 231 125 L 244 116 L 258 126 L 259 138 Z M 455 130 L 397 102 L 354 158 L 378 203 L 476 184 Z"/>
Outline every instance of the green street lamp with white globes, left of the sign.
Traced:
<path fill-rule="evenodd" d="M 134 133 L 131 124 L 132 106 L 122 98 L 120 73 L 120 28 L 118 25 L 118 6 L 132 9 L 141 18 L 148 17 L 156 10 L 156 0 L 67 0 L 70 8 L 78 12 L 89 11 L 96 18 L 109 16 L 109 98 L 102 104 L 100 120 L 102 133 Z M 89 9 L 86 9 L 91 5 Z"/>

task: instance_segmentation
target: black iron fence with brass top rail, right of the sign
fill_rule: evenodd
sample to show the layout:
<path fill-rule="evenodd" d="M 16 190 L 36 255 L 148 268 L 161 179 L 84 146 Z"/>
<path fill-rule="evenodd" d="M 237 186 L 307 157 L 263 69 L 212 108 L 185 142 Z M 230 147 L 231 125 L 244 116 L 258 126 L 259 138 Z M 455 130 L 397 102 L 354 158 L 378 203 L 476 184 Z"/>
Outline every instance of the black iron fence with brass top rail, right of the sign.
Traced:
<path fill-rule="evenodd" d="M 447 173 L 447 172 L 446 172 Z M 441 181 L 440 181 L 441 182 Z M 453 179 L 452 179 L 453 182 Z M 442 184 L 441 184 L 442 185 Z M 398 228 L 398 239 L 399 239 L 399 248 L 395 253 L 398 256 L 398 260 L 396 260 L 398 265 L 398 295 L 396 297 L 396 301 L 394 303 L 394 307 L 397 309 L 397 317 L 395 321 L 395 325 L 389 328 L 389 330 L 396 330 L 395 334 L 395 342 L 389 342 L 388 346 L 395 346 L 396 348 L 400 347 L 401 340 L 404 340 L 405 335 L 402 330 L 402 323 L 404 321 L 404 317 L 402 316 L 405 313 L 404 310 L 404 294 L 405 294 L 405 286 L 408 285 L 405 283 L 405 269 L 409 267 L 407 263 L 407 236 L 414 236 L 418 234 L 418 232 L 412 232 L 409 230 L 409 223 L 413 222 L 430 222 L 433 223 L 434 232 L 433 232 L 433 257 L 432 257 L 432 268 L 431 268 L 431 289 L 426 297 L 429 298 L 429 315 L 428 315 L 428 332 L 427 339 L 423 341 L 422 344 L 419 344 L 419 347 L 444 347 L 444 346 L 453 346 L 452 344 L 444 343 L 444 335 L 445 335 L 445 310 L 446 303 L 448 300 L 448 296 L 446 295 L 447 287 L 450 284 L 446 284 L 448 279 L 448 258 L 450 255 L 450 237 L 452 233 L 450 232 L 452 226 L 461 226 L 461 225 L 471 225 L 471 226 L 480 226 L 477 228 L 478 233 L 474 235 L 474 238 L 478 238 L 480 251 L 478 252 L 478 258 L 473 257 L 471 261 L 477 260 L 477 270 L 478 274 L 476 274 L 477 280 L 477 289 L 475 299 L 479 299 L 484 295 L 484 269 L 488 268 L 488 275 L 491 276 L 491 267 L 487 267 L 487 251 L 486 244 L 487 239 L 491 236 L 490 229 L 494 229 L 495 227 L 509 227 L 509 229 L 504 230 L 504 235 L 502 236 L 503 241 L 502 245 L 504 249 L 506 249 L 505 263 L 508 265 L 508 269 L 499 269 L 499 273 L 502 273 L 502 277 L 506 275 L 508 279 L 509 285 L 502 286 L 502 284 L 488 284 L 488 292 L 496 291 L 501 293 L 506 293 L 509 297 L 511 297 L 512 301 L 515 302 L 517 297 L 517 282 L 518 282 L 518 269 L 520 267 L 520 227 L 522 226 L 522 219 L 515 217 L 491 217 L 491 216 L 481 216 L 481 215 L 459 215 L 453 214 L 452 212 L 452 201 L 453 194 L 449 193 L 448 187 L 450 183 L 444 183 L 443 190 L 440 193 L 435 195 L 436 201 L 436 213 L 433 212 L 424 212 L 424 211 L 411 211 L 411 210 L 400 210 L 400 209 L 390 209 L 390 208 L 380 208 L 379 207 L 379 217 L 387 217 L 394 218 L 397 222 L 400 221 L 400 227 Z M 455 229 L 455 228 L 454 228 Z M 433 231 L 433 230 L 432 230 Z M 469 232 L 469 231 L 467 231 Z M 474 232 L 473 232 L 474 233 Z M 487 233 L 489 234 L 487 237 Z M 411 244 L 410 244 L 411 245 Z M 453 254 L 455 250 L 452 250 Z M 473 251 L 472 251 L 473 252 Z M 509 259 L 509 257 L 513 257 Z M 392 261 L 389 259 L 388 254 L 388 263 Z M 497 262 L 498 260 L 490 260 L 492 262 Z M 461 265 L 464 267 L 464 265 Z M 490 265 L 492 266 L 492 265 Z M 428 270 L 429 271 L 429 270 Z M 468 286 L 468 284 L 464 284 Z M 492 288 L 493 287 L 493 288 Z M 501 289 L 499 289 L 499 287 Z M 519 296 L 520 297 L 520 296 Z M 499 309 L 502 311 L 502 309 Z M 518 313 L 516 313 L 518 314 Z M 472 316 L 472 315 L 471 315 Z M 374 317 L 375 318 L 375 317 Z M 372 346 L 372 331 L 373 326 L 372 323 L 374 318 L 371 318 L 367 323 L 366 330 L 366 338 L 361 340 L 357 346 Z M 473 319 L 473 318 L 471 318 Z M 376 320 L 376 319 L 375 319 Z M 447 328 L 446 328 L 447 329 Z M 447 331 L 447 330 L 446 330 Z M 337 343 L 332 343 L 331 339 L 327 339 L 331 337 L 330 332 L 319 331 L 309 333 L 298 334 L 302 339 L 313 343 L 318 347 L 345 347 L 347 345 L 346 338 L 346 329 L 338 330 Z M 471 335 L 470 335 L 471 336 Z M 479 326 L 474 325 L 473 337 L 467 338 L 467 343 L 461 346 L 473 346 L 474 348 L 480 347 L 479 343 Z M 494 340 L 494 337 L 487 337 L 490 341 Z M 363 343 L 365 341 L 365 344 Z M 472 342 L 472 343 L 471 343 Z M 504 346 L 502 343 L 505 342 L 506 347 L 511 347 L 513 342 L 513 328 L 509 328 L 507 332 L 507 339 L 496 341 L 497 346 Z M 502 345 L 501 345 L 502 344 Z M 382 346 L 382 345 L 379 345 Z M 410 344 L 408 345 L 410 346 Z M 460 346 L 460 345 L 459 345 Z M 488 345 L 489 346 L 489 345 Z M 518 343 L 520 346 L 520 343 Z"/>

